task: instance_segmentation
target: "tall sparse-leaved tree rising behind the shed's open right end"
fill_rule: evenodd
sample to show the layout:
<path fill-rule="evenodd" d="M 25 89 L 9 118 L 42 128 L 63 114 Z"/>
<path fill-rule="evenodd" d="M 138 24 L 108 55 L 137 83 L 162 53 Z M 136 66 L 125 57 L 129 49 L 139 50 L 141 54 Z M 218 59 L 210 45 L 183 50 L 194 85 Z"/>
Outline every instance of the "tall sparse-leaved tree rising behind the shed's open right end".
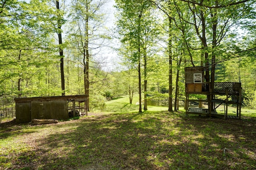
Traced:
<path fill-rule="evenodd" d="M 84 66 L 84 94 L 89 96 L 89 65 L 90 58 L 98 54 L 104 46 L 106 35 L 106 13 L 102 10 L 107 0 L 74 0 L 71 2 L 69 14 L 71 46 L 82 55 Z M 104 30 L 105 29 L 105 30 Z M 87 101 L 87 109 L 89 100 Z"/>

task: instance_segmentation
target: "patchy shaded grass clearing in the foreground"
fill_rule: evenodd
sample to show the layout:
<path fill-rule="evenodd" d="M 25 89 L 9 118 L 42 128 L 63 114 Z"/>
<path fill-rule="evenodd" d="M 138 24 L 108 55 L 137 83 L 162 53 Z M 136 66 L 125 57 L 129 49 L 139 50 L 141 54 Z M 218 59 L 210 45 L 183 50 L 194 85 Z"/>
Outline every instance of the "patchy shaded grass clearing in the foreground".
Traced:
<path fill-rule="evenodd" d="M 256 119 L 167 111 L 111 113 L 57 124 L 5 122 L 0 170 L 256 169 Z"/>

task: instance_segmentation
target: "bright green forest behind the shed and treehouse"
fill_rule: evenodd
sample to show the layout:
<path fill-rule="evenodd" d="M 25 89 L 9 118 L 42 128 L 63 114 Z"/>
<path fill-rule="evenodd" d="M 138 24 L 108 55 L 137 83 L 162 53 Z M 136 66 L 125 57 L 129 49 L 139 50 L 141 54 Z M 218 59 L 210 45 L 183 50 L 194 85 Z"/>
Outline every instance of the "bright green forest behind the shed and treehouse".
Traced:
<path fill-rule="evenodd" d="M 1 113 L 14 117 L 14 98 L 78 94 L 90 111 L 136 94 L 139 112 L 149 100 L 176 111 L 190 66 L 207 67 L 209 82 L 241 82 L 243 107 L 254 109 L 255 9 L 254 0 L 1 0 Z"/>

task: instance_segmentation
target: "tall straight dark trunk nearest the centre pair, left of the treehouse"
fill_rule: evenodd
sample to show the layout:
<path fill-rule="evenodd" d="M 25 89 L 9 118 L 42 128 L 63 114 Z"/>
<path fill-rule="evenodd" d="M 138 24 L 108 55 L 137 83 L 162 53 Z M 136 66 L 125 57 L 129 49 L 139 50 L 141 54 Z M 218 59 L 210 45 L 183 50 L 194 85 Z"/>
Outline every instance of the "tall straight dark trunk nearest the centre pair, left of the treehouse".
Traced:
<path fill-rule="evenodd" d="M 170 0 L 169 0 L 170 3 Z M 168 42 L 168 53 L 169 53 L 169 108 L 168 111 L 172 110 L 172 18 L 169 16 L 169 42 Z"/>

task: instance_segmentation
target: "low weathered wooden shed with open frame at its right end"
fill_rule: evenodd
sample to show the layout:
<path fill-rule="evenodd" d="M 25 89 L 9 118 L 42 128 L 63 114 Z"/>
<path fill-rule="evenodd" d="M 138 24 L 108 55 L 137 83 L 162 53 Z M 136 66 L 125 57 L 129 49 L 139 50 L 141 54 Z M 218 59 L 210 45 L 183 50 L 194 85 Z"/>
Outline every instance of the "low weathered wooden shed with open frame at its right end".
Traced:
<path fill-rule="evenodd" d="M 76 110 L 87 115 L 88 95 L 48 96 L 15 98 L 16 122 L 30 122 L 32 119 L 68 119 L 69 111 L 75 116 Z M 81 103 L 83 103 L 81 106 Z"/>

